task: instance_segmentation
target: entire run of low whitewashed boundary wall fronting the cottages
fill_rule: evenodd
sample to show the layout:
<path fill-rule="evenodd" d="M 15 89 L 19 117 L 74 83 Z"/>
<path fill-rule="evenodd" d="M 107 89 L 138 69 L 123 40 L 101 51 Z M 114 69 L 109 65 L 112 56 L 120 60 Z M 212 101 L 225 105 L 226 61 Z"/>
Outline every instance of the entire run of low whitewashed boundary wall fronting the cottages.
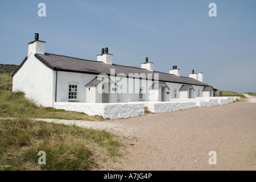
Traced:
<path fill-rule="evenodd" d="M 103 118 L 117 119 L 144 115 L 144 106 L 152 113 L 168 113 L 194 107 L 209 107 L 228 104 L 240 100 L 240 97 L 196 97 L 170 99 L 170 102 L 128 102 L 128 103 L 80 103 L 55 102 L 55 109 L 79 111 L 88 115 L 101 115 Z"/>

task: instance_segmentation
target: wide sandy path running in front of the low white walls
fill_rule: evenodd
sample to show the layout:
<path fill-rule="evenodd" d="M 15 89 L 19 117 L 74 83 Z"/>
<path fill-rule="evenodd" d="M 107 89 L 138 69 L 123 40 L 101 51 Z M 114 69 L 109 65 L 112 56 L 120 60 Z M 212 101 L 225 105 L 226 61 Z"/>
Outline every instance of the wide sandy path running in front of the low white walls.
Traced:
<path fill-rule="evenodd" d="M 252 157 L 255 110 L 254 103 L 236 102 L 114 121 L 69 123 L 121 136 L 127 154 L 115 163 L 102 164 L 101 169 L 255 170 L 251 165 L 256 164 L 255 154 Z M 209 151 L 216 151 L 216 165 L 208 163 Z"/>

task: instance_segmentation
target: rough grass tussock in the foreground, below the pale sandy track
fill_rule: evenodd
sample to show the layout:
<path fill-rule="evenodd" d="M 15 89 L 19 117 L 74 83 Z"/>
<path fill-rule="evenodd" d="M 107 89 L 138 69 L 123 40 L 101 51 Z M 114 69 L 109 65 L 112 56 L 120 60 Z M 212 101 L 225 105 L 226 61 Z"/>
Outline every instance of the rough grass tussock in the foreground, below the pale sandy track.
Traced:
<path fill-rule="evenodd" d="M 0 131 L 0 170 L 91 170 L 121 145 L 104 130 L 27 119 L 2 119 Z M 46 165 L 38 164 L 39 151 Z"/>

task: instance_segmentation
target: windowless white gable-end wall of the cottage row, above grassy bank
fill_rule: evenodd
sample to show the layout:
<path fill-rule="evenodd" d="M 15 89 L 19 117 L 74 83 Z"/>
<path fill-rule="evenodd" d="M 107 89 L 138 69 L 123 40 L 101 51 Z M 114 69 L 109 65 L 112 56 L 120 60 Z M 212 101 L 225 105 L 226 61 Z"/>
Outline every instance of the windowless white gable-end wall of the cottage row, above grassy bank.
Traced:
<path fill-rule="evenodd" d="M 38 105 L 52 107 L 55 100 L 53 92 L 53 71 L 30 54 L 26 62 L 13 76 L 13 91 L 20 90 Z"/>

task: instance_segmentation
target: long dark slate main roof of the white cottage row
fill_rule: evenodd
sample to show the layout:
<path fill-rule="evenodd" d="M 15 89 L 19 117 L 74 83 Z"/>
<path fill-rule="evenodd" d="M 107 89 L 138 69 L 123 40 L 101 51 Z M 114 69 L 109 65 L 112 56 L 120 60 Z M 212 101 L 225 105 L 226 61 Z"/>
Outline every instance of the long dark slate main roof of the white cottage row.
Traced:
<path fill-rule="evenodd" d="M 126 77 L 129 76 L 129 73 L 138 73 L 139 75 L 141 73 L 144 73 L 146 76 L 148 73 L 158 73 L 158 80 L 161 82 L 176 82 L 180 84 L 210 86 L 208 84 L 205 84 L 204 82 L 195 80 L 194 78 L 176 76 L 173 74 L 158 71 L 150 72 L 147 69 L 123 66 L 118 64 L 108 65 L 103 63 L 102 61 L 79 59 L 76 57 L 55 55 L 52 53 L 45 53 L 44 55 L 35 54 L 35 57 L 42 61 L 42 63 L 45 64 L 47 67 L 58 71 L 90 73 L 94 75 L 106 73 L 110 76 L 110 69 L 115 69 L 115 75 L 117 75 L 118 73 L 124 73 Z M 22 67 L 26 60 L 27 57 L 23 60 L 22 64 L 20 64 L 20 67 Z M 19 70 L 19 68 L 13 73 L 13 76 Z M 154 80 L 154 74 L 152 74 L 152 80 Z"/>

